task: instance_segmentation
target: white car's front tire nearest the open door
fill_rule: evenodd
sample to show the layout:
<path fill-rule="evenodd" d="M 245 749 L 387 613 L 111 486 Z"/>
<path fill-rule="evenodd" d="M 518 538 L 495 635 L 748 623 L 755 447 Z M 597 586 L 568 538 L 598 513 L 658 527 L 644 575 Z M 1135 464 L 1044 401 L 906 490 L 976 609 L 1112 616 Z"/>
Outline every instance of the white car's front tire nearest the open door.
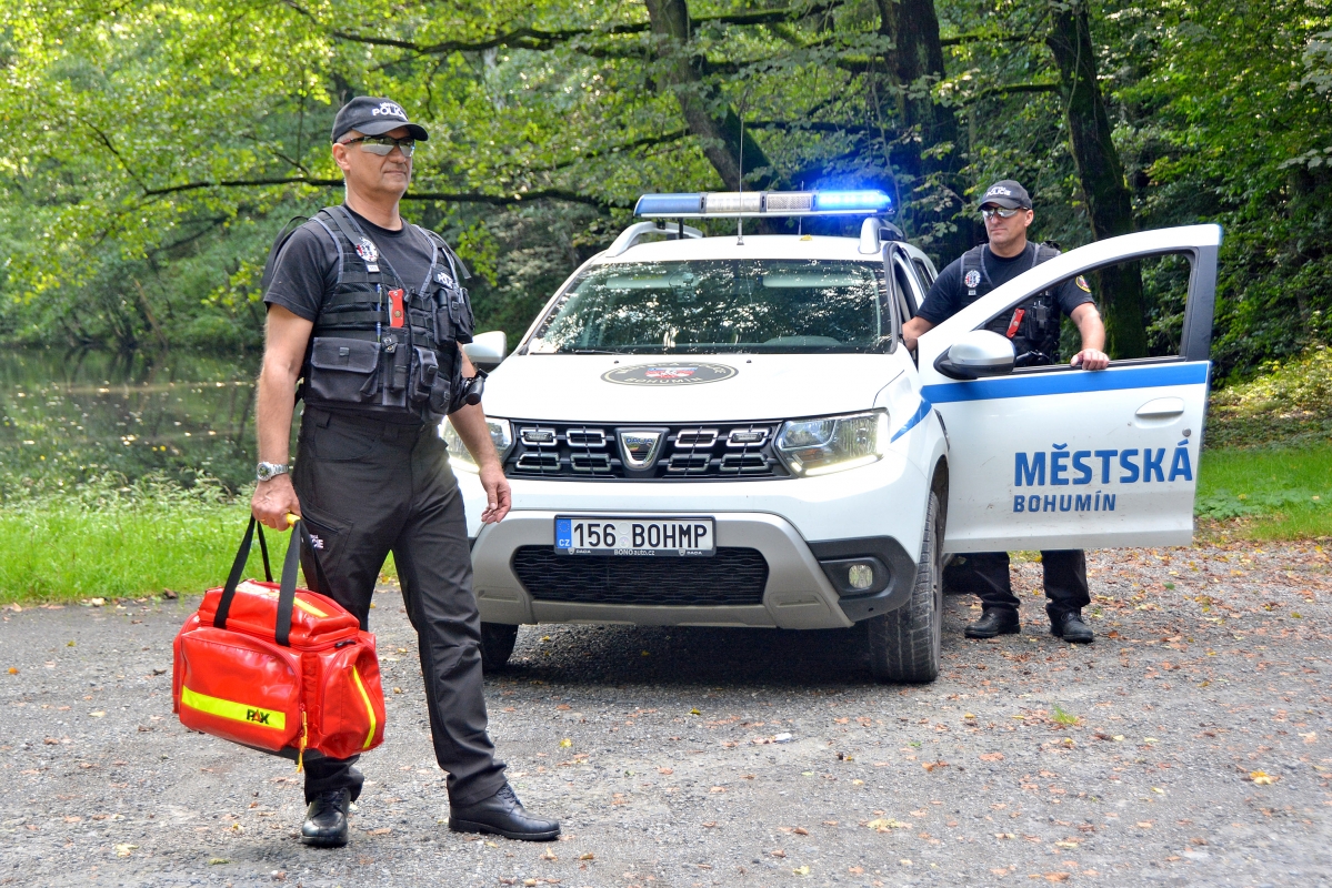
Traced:
<path fill-rule="evenodd" d="M 870 671 L 876 682 L 922 683 L 939 678 L 943 648 L 943 542 L 939 495 L 930 493 L 911 599 L 895 611 L 867 619 Z"/>

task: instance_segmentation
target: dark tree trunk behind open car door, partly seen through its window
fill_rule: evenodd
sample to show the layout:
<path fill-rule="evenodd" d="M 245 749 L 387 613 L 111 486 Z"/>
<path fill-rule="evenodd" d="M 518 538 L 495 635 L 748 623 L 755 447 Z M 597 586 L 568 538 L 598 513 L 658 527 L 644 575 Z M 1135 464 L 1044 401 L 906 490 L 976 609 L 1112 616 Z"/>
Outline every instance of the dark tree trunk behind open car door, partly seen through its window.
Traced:
<path fill-rule="evenodd" d="M 1119 152 L 1111 140 L 1106 103 L 1096 85 L 1095 48 L 1087 7 L 1082 0 L 1054 8 L 1046 43 L 1055 55 L 1063 80 L 1068 140 L 1087 200 L 1092 234 L 1096 240 L 1128 234 L 1136 228 L 1134 204 Z M 1103 269 L 1098 277 L 1110 355 L 1147 357 L 1142 268 L 1138 262 L 1120 264 Z"/>

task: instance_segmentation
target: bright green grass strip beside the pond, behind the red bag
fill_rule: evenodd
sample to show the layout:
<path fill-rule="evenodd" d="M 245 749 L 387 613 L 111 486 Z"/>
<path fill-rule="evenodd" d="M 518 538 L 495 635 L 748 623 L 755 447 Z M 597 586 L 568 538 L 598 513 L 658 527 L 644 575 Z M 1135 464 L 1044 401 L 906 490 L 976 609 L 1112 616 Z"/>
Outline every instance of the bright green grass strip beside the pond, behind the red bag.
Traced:
<path fill-rule="evenodd" d="M 208 479 L 189 489 L 116 475 L 69 490 L 11 486 L 0 511 L 0 603 L 202 592 L 226 579 L 248 519 L 249 503 Z M 289 537 L 268 533 L 274 575 Z M 393 575 L 392 558 L 385 572 Z M 246 575 L 264 575 L 258 545 Z"/>

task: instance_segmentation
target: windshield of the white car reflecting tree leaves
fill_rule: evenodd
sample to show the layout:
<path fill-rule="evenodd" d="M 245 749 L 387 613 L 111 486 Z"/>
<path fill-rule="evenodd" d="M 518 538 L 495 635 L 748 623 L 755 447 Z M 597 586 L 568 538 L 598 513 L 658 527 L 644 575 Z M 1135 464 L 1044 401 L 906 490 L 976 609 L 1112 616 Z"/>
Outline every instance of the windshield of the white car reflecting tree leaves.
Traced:
<path fill-rule="evenodd" d="M 883 294 L 880 262 L 617 262 L 573 282 L 529 351 L 879 351 L 891 326 Z"/>

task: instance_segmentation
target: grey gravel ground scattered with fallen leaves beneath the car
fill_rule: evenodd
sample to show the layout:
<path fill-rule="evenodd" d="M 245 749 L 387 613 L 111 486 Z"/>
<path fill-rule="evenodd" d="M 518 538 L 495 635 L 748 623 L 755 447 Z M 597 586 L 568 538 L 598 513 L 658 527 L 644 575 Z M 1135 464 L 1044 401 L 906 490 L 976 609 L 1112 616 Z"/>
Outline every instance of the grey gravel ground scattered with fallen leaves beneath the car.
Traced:
<path fill-rule="evenodd" d="M 389 739 L 342 851 L 298 843 L 290 763 L 172 716 L 197 599 L 11 608 L 0 884 L 1332 884 L 1328 556 L 1090 562 L 1094 646 L 1048 635 L 1020 563 L 1024 632 L 964 640 L 979 611 L 950 596 L 924 687 L 871 683 L 854 632 L 525 627 L 486 695 L 519 796 L 563 821 L 545 845 L 444 825 L 396 590 Z"/>

